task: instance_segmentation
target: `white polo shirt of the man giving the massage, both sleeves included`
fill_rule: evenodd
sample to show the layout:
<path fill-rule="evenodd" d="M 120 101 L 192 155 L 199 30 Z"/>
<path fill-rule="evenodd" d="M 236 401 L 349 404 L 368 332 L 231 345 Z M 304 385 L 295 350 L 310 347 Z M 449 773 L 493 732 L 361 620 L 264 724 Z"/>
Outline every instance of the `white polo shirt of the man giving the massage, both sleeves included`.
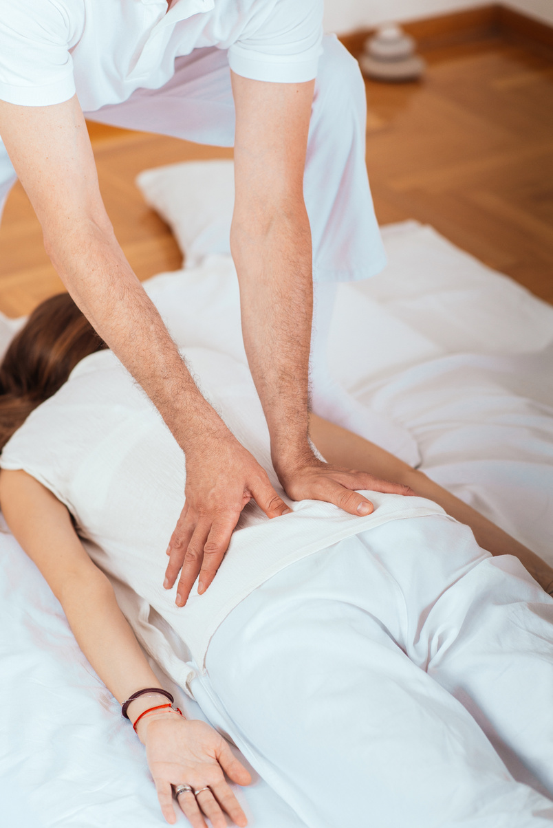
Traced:
<path fill-rule="evenodd" d="M 322 0 L 0 0 L 0 100 L 84 111 L 159 89 L 176 57 L 216 46 L 238 75 L 315 78 Z"/>

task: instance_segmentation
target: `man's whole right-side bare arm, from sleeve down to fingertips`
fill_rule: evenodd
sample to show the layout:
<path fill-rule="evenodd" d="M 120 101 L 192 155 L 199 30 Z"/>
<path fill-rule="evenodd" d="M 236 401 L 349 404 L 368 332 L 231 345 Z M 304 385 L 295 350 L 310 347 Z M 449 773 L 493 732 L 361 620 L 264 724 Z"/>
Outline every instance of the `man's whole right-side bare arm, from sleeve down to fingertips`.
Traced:
<path fill-rule="evenodd" d="M 286 493 L 351 514 L 373 505 L 355 489 L 368 475 L 320 463 L 308 441 L 313 310 L 310 224 L 303 198 L 313 82 L 275 84 L 232 75 L 236 200 L 231 248 L 240 283 L 243 338 Z M 325 182 L 320 182 L 321 187 Z M 404 491 L 380 481 L 382 491 Z M 372 478 L 372 489 L 378 481 Z"/>

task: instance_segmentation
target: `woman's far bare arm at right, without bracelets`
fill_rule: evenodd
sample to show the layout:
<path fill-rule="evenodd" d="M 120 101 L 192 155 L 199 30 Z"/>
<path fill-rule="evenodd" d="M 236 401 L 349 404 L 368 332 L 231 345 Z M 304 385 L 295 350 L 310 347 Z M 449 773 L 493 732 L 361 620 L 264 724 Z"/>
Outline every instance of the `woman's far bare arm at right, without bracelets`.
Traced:
<path fill-rule="evenodd" d="M 329 463 L 344 465 L 349 469 L 370 472 L 379 478 L 394 480 L 409 486 L 421 498 L 438 503 L 445 512 L 460 523 L 466 523 L 476 542 L 492 555 L 513 555 L 527 568 L 546 592 L 553 595 L 553 569 L 534 552 L 503 532 L 495 523 L 467 506 L 446 489 L 434 483 L 421 471 L 411 469 L 402 460 L 363 437 L 333 423 L 310 415 L 311 439 Z"/>

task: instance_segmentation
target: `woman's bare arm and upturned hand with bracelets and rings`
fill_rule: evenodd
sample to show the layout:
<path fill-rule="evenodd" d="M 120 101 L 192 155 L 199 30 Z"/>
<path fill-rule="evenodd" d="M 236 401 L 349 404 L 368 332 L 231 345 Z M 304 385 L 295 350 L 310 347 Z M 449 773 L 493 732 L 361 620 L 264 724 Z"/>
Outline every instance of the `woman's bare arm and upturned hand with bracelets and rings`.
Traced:
<path fill-rule="evenodd" d="M 0 473 L 0 503 L 7 525 L 46 578 L 79 647 L 113 696 L 122 703 L 137 690 L 161 687 L 118 607 L 112 585 L 84 550 L 63 503 L 26 472 L 6 469 Z M 144 710 L 166 703 L 165 696 L 141 696 L 132 701 L 128 713 L 137 720 Z M 142 719 L 137 734 L 146 745 L 168 822 L 176 821 L 171 784 L 182 782 L 195 789 L 212 787 L 224 811 L 238 825 L 246 825 L 224 771 L 242 785 L 250 782 L 250 776 L 214 729 L 162 710 Z M 215 828 L 227 826 L 214 797 L 206 800 L 202 797 L 205 816 Z M 205 828 L 192 794 L 180 796 L 179 804 L 194 828 Z"/>

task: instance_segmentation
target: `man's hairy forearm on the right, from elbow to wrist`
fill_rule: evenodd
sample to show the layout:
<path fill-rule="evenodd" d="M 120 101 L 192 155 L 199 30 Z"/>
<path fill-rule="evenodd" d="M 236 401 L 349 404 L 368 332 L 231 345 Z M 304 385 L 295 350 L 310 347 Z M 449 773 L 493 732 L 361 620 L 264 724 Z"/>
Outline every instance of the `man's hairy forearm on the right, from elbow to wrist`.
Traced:
<path fill-rule="evenodd" d="M 300 460 L 308 445 L 310 227 L 303 204 L 287 206 L 257 224 L 235 213 L 231 233 L 244 345 L 276 466 Z"/>

